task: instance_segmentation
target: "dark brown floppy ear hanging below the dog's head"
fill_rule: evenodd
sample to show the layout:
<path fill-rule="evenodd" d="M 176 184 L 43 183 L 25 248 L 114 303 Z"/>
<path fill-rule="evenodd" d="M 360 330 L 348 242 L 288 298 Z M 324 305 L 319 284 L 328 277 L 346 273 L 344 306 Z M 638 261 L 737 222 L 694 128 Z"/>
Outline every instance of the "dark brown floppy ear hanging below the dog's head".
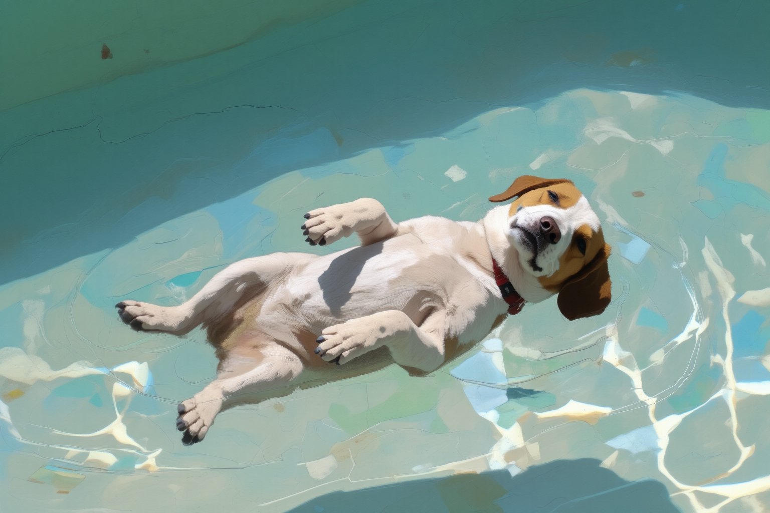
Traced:
<path fill-rule="evenodd" d="M 605 244 L 591 263 L 561 287 L 557 304 L 561 314 L 570 321 L 599 315 L 610 304 L 611 281 L 607 266 L 610 251 L 610 245 Z"/>

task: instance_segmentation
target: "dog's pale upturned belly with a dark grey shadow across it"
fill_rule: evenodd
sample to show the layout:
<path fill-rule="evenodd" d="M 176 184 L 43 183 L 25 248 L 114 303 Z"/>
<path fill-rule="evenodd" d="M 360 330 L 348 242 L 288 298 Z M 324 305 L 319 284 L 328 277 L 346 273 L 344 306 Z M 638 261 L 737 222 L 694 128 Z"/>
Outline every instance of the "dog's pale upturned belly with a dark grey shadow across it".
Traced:
<path fill-rule="evenodd" d="M 380 311 L 403 311 L 420 325 L 457 284 L 472 282 L 446 246 L 400 235 L 298 265 L 270 287 L 258 311 L 244 318 L 244 328 L 249 338 L 291 345 L 299 339 L 312 349 L 323 328 Z"/>

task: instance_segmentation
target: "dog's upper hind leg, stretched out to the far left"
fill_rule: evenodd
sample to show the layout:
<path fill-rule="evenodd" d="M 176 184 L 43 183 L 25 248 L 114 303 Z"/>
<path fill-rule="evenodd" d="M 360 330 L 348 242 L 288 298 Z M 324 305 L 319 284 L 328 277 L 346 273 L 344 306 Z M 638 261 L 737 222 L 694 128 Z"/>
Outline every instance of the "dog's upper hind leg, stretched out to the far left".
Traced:
<path fill-rule="evenodd" d="M 178 306 L 159 306 L 140 301 L 120 301 L 118 315 L 137 331 L 168 331 L 184 335 L 206 321 L 235 308 L 245 295 L 255 297 L 269 283 L 296 264 L 313 258 L 305 253 L 273 253 L 246 258 L 217 273 L 189 301 Z"/>

